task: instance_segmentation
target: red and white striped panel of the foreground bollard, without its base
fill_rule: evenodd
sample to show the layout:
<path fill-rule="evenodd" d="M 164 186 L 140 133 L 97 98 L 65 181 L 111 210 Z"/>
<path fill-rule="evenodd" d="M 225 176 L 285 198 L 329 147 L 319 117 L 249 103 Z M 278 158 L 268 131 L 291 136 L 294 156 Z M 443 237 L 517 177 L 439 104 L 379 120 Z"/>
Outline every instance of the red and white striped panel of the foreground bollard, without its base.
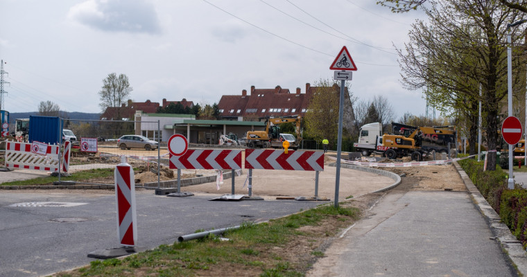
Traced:
<path fill-rule="evenodd" d="M 121 157 L 121 163 L 115 167 L 114 176 L 119 242 L 125 246 L 135 246 L 137 243 L 137 215 L 135 213 L 134 170 L 126 162 L 126 157 Z"/>

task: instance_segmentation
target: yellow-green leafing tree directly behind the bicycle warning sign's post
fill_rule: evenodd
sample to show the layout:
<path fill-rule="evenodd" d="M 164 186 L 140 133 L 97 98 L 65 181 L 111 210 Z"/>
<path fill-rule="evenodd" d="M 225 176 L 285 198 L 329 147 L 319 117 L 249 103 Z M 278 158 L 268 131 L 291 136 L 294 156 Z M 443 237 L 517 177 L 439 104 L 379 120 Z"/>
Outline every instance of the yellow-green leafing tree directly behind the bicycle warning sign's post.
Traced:
<path fill-rule="evenodd" d="M 308 136 L 313 139 L 328 139 L 330 143 L 337 141 L 338 108 L 340 102 L 340 87 L 336 82 L 320 80 L 315 84 L 316 91 L 309 100 L 304 123 Z M 348 91 L 349 88 L 345 88 Z M 345 95 L 343 111 L 343 131 L 352 134 L 354 129 L 354 113 L 352 108 L 352 93 Z"/>

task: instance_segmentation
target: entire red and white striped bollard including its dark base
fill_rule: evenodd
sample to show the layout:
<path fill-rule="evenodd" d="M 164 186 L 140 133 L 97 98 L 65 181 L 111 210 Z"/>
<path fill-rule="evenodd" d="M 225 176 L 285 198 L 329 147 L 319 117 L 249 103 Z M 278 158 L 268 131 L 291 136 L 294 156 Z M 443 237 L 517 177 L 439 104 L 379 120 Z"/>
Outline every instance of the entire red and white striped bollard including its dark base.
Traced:
<path fill-rule="evenodd" d="M 116 258 L 144 250 L 144 247 L 137 247 L 134 170 L 127 163 L 126 157 L 121 157 L 121 163 L 115 167 L 114 178 L 117 233 L 119 234 L 119 243 L 123 247 L 93 251 L 88 254 L 89 258 Z"/>

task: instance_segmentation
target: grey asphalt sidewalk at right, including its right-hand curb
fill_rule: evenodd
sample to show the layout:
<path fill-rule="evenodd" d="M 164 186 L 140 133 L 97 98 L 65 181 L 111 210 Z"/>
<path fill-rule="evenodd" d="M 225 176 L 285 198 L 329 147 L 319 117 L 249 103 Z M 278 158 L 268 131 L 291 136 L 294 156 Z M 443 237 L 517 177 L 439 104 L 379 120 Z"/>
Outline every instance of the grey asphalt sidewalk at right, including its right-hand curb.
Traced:
<path fill-rule="evenodd" d="M 468 193 L 386 193 L 307 276 L 519 276 L 511 259 L 525 274 L 521 244 L 460 175 Z"/>

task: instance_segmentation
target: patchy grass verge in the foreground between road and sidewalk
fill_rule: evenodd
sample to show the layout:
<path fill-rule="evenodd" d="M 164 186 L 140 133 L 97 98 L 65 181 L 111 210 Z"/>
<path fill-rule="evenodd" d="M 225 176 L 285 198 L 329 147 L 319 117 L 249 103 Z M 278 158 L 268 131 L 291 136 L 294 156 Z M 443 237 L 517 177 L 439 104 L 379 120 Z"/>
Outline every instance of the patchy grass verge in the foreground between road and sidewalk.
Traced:
<path fill-rule="evenodd" d="M 88 267 L 58 276 L 135 276 L 139 273 L 141 276 L 195 276 L 200 271 L 211 270 L 211 267 L 216 268 L 214 272 L 218 269 L 229 272 L 233 268 L 245 268 L 250 272 L 260 272 L 260 276 L 304 276 L 302 272 L 307 269 L 306 266 L 295 267 L 282 256 L 267 250 L 284 247 L 296 238 L 295 235 L 304 235 L 306 240 L 310 240 L 311 235 L 295 232 L 295 229 L 318 225 L 328 216 L 356 220 L 358 209 L 322 206 L 262 224 L 246 222 L 239 229 L 223 235 L 229 238 L 228 241 L 207 236 L 201 240 L 163 244 L 121 260 L 96 260 Z M 322 257 L 324 253 L 313 251 L 311 255 Z"/>

